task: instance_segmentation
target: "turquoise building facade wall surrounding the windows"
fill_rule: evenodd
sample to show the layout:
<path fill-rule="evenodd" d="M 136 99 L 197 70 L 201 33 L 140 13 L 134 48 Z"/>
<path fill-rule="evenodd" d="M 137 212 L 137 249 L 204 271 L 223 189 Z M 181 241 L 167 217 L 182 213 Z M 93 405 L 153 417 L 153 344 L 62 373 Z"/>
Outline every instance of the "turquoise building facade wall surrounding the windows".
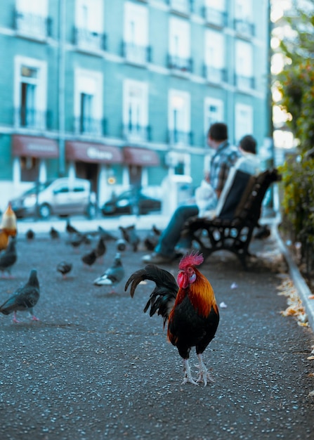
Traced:
<path fill-rule="evenodd" d="M 185 172 L 197 186 L 202 179 L 204 155 L 209 152 L 206 145 L 207 124 L 204 117 L 204 100 L 206 98 L 223 101 L 223 120 L 228 124 L 230 141 L 235 143 L 237 138 L 236 105 L 244 104 L 252 108 L 252 131 L 256 136 L 259 148 L 268 136 L 268 1 L 251 0 L 253 36 L 241 36 L 235 31 L 235 0 L 225 2 L 228 11 L 227 25 L 215 27 L 204 20 L 204 4 L 202 0 L 192 2 L 192 13 L 186 15 L 174 13 L 168 1 L 148 0 L 131 1 L 136 6 L 148 10 L 148 45 L 151 60 L 144 65 L 129 63 L 122 56 L 122 40 L 124 39 L 124 0 L 103 0 L 103 30 L 106 35 L 106 49 L 93 51 L 90 48 L 81 49 L 74 43 L 74 27 L 77 0 L 48 1 L 49 34 L 44 39 L 36 36 L 22 36 L 15 29 L 14 10 L 15 0 L 3 0 L 0 9 L 0 191 L 1 188 L 12 188 L 12 194 L 25 187 L 25 182 L 13 182 L 13 150 L 12 136 L 40 136 L 51 138 L 59 145 L 62 157 L 47 159 L 46 174 L 49 178 L 67 174 L 72 164 L 64 155 L 66 141 L 84 141 L 86 143 L 101 143 L 115 145 L 123 151 L 124 146 L 147 148 L 159 155 L 160 164 L 157 167 L 143 167 L 148 176 L 149 186 L 159 186 L 162 180 L 176 170 L 169 167 L 166 153 L 174 151 L 178 157 L 185 157 Z M 26 2 L 27 3 L 27 2 Z M 171 1 L 169 2 L 171 3 Z M 60 7 L 64 7 L 65 15 L 60 22 Z M 190 24 L 190 47 L 192 72 L 185 73 L 171 70 L 167 66 L 169 53 L 169 20 L 177 18 Z M 65 26 L 65 44 L 60 42 Z M 215 30 L 225 38 L 225 70 L 226 80 L 218 83 L 208 82 L 204 72 L 204 34 L 207 30 Z M 253 88 L 239 89 L 235 85 L 235 46 L 236 41 L 244 41 L 253 47 L 252 68 L 255 84 Z M 25 56 L 46 62 L 47 65 L 47 126 L 46 128 L 20 127 L 16 123 L 14 103 L 15 88 L 15 57 Z M 64 71 L 60 60 L 64 57 Z M 60 73 L 61 69 L 61 73 Z M 81 134 L 74 131 L 74 95 L 75 75 L 77 69 L 98 72 L 103 76 L 103 133 Z M 60 95 L 63 78 L 65 94 Z M 134 79 L 148 84 L 148 124 L 150 138 L 140 141 L 130 141 L 123 136 L 123 88 L 126 79 Z M 181 145 L 169 143 L 169 90 L 176 89 L 190 94 L 190 129 L 192 143 Z M 62 88 L 61 88 L 62 91 Z M 61 105 L 60 105 L 61 104 Z M 60 131 L 60 109 L 64 109 L 65 131 Z M 100 167 L 100 165 L 99 165 Z M 106 165 L 110 173 L 115 174 L 117 184 L 127 184 L 127 164 L 117 163 Z M 64 169 L 63 169 L 64 168 Z M 99 168 L 100 169 L 100 168 Z M 107 196 L 112 187 L 108 186 L 102 197 Z M 29 184 L 29 183 L 27 183 Z M 7 200 L 1 201 L 0 209 L 4 208 Z M 103 202 L 99 200 L 98 202 Z"/>

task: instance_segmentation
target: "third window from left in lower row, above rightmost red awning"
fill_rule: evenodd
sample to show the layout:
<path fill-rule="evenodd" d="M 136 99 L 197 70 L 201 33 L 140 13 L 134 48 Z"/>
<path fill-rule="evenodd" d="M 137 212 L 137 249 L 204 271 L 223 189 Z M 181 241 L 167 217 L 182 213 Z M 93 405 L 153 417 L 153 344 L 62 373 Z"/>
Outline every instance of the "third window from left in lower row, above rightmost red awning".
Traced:
<path fill-rule="evenodd" d="M 144 82 L 124 81 L 123 125 L 126 138 L 148 140 L 148 86 Z"/>

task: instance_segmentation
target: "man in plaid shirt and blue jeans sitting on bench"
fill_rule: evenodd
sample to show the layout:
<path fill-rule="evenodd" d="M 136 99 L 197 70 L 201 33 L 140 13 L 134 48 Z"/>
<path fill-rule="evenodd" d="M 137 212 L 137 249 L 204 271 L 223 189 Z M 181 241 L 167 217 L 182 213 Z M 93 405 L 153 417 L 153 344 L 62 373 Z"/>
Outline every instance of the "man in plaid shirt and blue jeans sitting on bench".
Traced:
<path fill-rule="evenodd" d="M 223 185 L 228 177 L 228 172 L 235 161 L 240 157 L 239 150 L 228 143 L 228 127 L 223 122 L 216 122 L 209 128 L 207 143 L 209 147 L 216 150 L 211 157 L 208 181 L 214 188 L 214 198 L 211 200 L 212 208 L 216 206 L 217 200 L 223 190 Z M 184 205 L 176 209 L 168 226 L 160 235 L 157 246 L 152 254 L 142 258 L 143 263 L 166 264 L 177 257 L 175 250 L 180 240 L 180 247 L 190 247 L 189 237 L 181 238 L 181 231 L 185 221 L 191 216 L 199 214 L 197 205 Z"/>

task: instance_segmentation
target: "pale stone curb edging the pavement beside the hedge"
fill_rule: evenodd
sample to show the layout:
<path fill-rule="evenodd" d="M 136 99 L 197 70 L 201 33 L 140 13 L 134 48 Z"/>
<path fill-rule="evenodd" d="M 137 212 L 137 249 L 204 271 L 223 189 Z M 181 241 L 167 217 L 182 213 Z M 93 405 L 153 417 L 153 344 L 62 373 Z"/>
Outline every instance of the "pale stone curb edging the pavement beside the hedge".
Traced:
<path fill-rule="evenodd" d="M 313 295 L 313 293 L 308 288 L 308 285 L 306 284 L 303 276 L 301 276 L 299 268 L 298 266 L 296 266 L 294 260 L 292 259 L 289 250 L 284 245 L 276 224 L 273 225 L 272 233 L 274 234 L 282 256 L 287 262 L 287 265 L 289 267 L 289 275 L 292 278 L 294 287 L 296 287 L 296 290 L 298 290 L 299 297 L 301 298 L 304 309 L 306 309 L 308 323 L 310 324 L 310 328 L 312 328 L 314 332 L 314 299 L 308 299 L 309 295 Z"/>

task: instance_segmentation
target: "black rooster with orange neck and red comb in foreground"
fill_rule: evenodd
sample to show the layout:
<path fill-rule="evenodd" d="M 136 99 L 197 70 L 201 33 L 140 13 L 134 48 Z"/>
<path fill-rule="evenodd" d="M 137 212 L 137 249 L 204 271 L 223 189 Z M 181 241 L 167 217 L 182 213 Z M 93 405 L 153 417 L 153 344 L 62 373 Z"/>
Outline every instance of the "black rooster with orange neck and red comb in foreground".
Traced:
<path fill-rule="evenodd" d="M 202 254 L 192 252 L 181 259 L 178 266 L 177 282 L 168 271 L 148 264 L 145 268 L 134 272 L 126 281 L 125 290 L 130 287 L 133 297 L 137 285 L 142 280 L 152 280 L 156 287 L 144 312 L 150 307 L 150 316 L 155 312 L 164 318 L 164 326 L 168 321 L 168 339 L 183 358 L 183 384 L 212 380 L 203 361 L 203 352 L 211 339 L 214 338 L 219 323 L 219 311 L 214 290 L 209 280 L 197 270 L 204 261 Z M 193 379 L 190 370 L 190 349 L 195 347 L 199 359 L 199 374 Z"/>

